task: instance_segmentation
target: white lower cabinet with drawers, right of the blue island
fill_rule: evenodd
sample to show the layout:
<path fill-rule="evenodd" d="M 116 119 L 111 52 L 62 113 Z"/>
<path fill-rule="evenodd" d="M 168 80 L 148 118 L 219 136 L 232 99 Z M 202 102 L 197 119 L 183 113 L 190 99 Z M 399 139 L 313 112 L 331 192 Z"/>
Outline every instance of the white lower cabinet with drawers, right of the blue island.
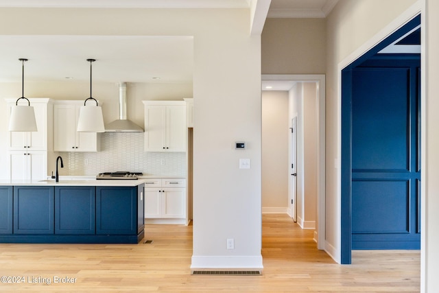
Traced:
<path fill-rule="evenodd" d="M 145 179 L 145 222 L 185 224 L 186 180 Z"/>

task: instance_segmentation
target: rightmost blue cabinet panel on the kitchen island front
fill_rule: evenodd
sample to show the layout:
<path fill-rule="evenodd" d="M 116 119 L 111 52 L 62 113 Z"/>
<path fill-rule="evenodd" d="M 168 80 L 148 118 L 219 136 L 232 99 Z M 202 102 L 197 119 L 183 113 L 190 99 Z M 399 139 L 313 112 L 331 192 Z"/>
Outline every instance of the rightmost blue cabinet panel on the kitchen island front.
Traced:
<path fill-rule="evenodd" d="M 137 187 L 96 187 L 96 234 L 137 235 Z"/>

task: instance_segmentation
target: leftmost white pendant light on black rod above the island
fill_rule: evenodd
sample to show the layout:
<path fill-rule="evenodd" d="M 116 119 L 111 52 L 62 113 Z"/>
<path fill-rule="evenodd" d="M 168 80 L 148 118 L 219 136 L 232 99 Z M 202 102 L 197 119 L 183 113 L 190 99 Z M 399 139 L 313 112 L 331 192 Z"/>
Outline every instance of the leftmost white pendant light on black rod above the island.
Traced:
<path fill-rule="evenodd" d="M 29 132 L 38 131 L 36 129 L 36 120 L 34 107 L 30 106 L 29 99 L 25 97 L 25 61 L 27 59 L 20 58 L 22 74 L 21 74 L 21 97 L 16 100 L 15 106 L 11 107 L 11 116 L 9 120 L 9 131 Z M 27 105 L 19 105 L 19 100 L 25 99 Z"/>

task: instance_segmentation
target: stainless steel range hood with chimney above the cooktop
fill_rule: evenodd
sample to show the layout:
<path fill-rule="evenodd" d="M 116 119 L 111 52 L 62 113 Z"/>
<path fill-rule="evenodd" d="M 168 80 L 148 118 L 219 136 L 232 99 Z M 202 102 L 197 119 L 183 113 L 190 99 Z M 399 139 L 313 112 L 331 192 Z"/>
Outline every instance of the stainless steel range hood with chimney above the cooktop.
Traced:
<path fill-rule="evenodd" d="M 143 132 L 143 128 L 127 119 L 126 82 L 119 83 L 119 119 L 105 125 L 105 132 Z"/>

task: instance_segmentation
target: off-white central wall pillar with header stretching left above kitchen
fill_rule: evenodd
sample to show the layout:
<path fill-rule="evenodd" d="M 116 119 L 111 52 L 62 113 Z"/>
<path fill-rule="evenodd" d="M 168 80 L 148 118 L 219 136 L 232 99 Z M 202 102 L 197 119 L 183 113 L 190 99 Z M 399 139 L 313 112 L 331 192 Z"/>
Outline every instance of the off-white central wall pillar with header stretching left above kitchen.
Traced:
<path fill-rule="evenodd" d="M 193 36 L 192 268 L 262 268 L 261 37 L 249 36 L 249 9 L 1 8 L 0 14 L 0 34 Z M 236 151 L 235 141 L 246 141 L 247 150 Z M 251 169 L 239 169 L 243 157 Z M 228 238 L 234 250 L 226 249 Z"/>

